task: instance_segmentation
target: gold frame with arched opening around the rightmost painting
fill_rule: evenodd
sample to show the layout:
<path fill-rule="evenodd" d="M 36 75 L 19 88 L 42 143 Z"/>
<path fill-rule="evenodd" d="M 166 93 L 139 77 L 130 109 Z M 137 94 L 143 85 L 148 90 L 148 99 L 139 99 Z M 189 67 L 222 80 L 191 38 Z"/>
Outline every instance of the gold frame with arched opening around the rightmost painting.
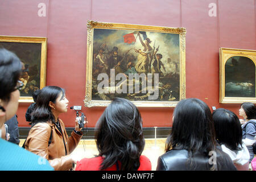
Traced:
<path fill-rule="evenodd" d="M 230 54 L 224 58 L 224 54 Z M 256 50 L 220 47 L 220 103 L 221 104 L 242 104 L 252 102 L 256 104 L 256 97 L 226 97 L 225 96 L 225 63 L 230 57 L 243 56 L 251 59 L 256 66 Z M 256 72 L 255 72 L 256 73 Z M 256 79 L 256 74 L 255 74 Z M 255 93 L 256 96 L 256 93 Z"/>

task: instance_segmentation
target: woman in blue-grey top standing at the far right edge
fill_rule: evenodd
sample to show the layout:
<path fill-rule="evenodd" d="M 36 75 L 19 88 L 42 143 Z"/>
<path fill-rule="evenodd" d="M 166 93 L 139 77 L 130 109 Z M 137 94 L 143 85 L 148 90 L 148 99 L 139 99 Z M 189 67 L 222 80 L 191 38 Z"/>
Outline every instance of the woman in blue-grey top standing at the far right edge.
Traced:
<path fill-rule="evenodd" d="M 243 102 L 239 110 L 239 115 L 244 118 L 242 125 L 242 140 L 250 153 L 250 160 L 254 158 L 253 144 L 256 135 L 256 107 L 251 102 Z M 255 145 L 255 144 L 254 144 Z"/>

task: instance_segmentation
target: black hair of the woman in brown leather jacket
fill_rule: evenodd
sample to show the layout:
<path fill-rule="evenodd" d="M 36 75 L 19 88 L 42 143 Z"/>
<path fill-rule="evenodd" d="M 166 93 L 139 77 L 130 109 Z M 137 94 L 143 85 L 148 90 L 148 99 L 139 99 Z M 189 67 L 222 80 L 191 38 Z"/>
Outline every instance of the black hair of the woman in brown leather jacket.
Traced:
<path fill-rule="evenodd" d="M 38 122 L 55 122 L 49 102 L 56 102 L 57 97 L 62 94 L 61 99 L 65 96 L 65 90 L 59 86 L 46 86 L 42 90 L 36 100 L 34 111 L 31 113 L 31 122 L 34 126 Z"/>

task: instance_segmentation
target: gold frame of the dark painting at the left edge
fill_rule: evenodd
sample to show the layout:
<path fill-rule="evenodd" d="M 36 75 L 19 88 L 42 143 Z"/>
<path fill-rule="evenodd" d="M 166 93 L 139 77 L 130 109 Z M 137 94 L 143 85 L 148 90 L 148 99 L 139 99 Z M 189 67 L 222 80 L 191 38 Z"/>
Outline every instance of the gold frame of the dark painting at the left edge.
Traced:
<path fill-rule="evenodd" d="M 13 43 L 40 43 L 41 60 L 40 60 L 40 89 L 46 86 L 46 66 L 47 66 L 47 38 L 34 36 L 6 36 L 0 35 L 0 42 Z M 34 102 L 32 97 L 19 97 L 19 102 Z"/>

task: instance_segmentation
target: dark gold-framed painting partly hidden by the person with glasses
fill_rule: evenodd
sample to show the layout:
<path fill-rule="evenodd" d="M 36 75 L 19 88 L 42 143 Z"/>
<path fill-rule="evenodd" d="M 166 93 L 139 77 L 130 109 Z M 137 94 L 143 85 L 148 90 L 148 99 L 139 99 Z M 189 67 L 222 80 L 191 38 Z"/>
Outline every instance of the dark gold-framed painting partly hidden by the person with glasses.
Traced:
<path fill-rule="evenodd" d="M 32 93 L 46 86 L 47 38 L 0 36 L 0 48 L 14 52 L 22 61 L 23 82 L 19 102 L 34 102 Z"/>

